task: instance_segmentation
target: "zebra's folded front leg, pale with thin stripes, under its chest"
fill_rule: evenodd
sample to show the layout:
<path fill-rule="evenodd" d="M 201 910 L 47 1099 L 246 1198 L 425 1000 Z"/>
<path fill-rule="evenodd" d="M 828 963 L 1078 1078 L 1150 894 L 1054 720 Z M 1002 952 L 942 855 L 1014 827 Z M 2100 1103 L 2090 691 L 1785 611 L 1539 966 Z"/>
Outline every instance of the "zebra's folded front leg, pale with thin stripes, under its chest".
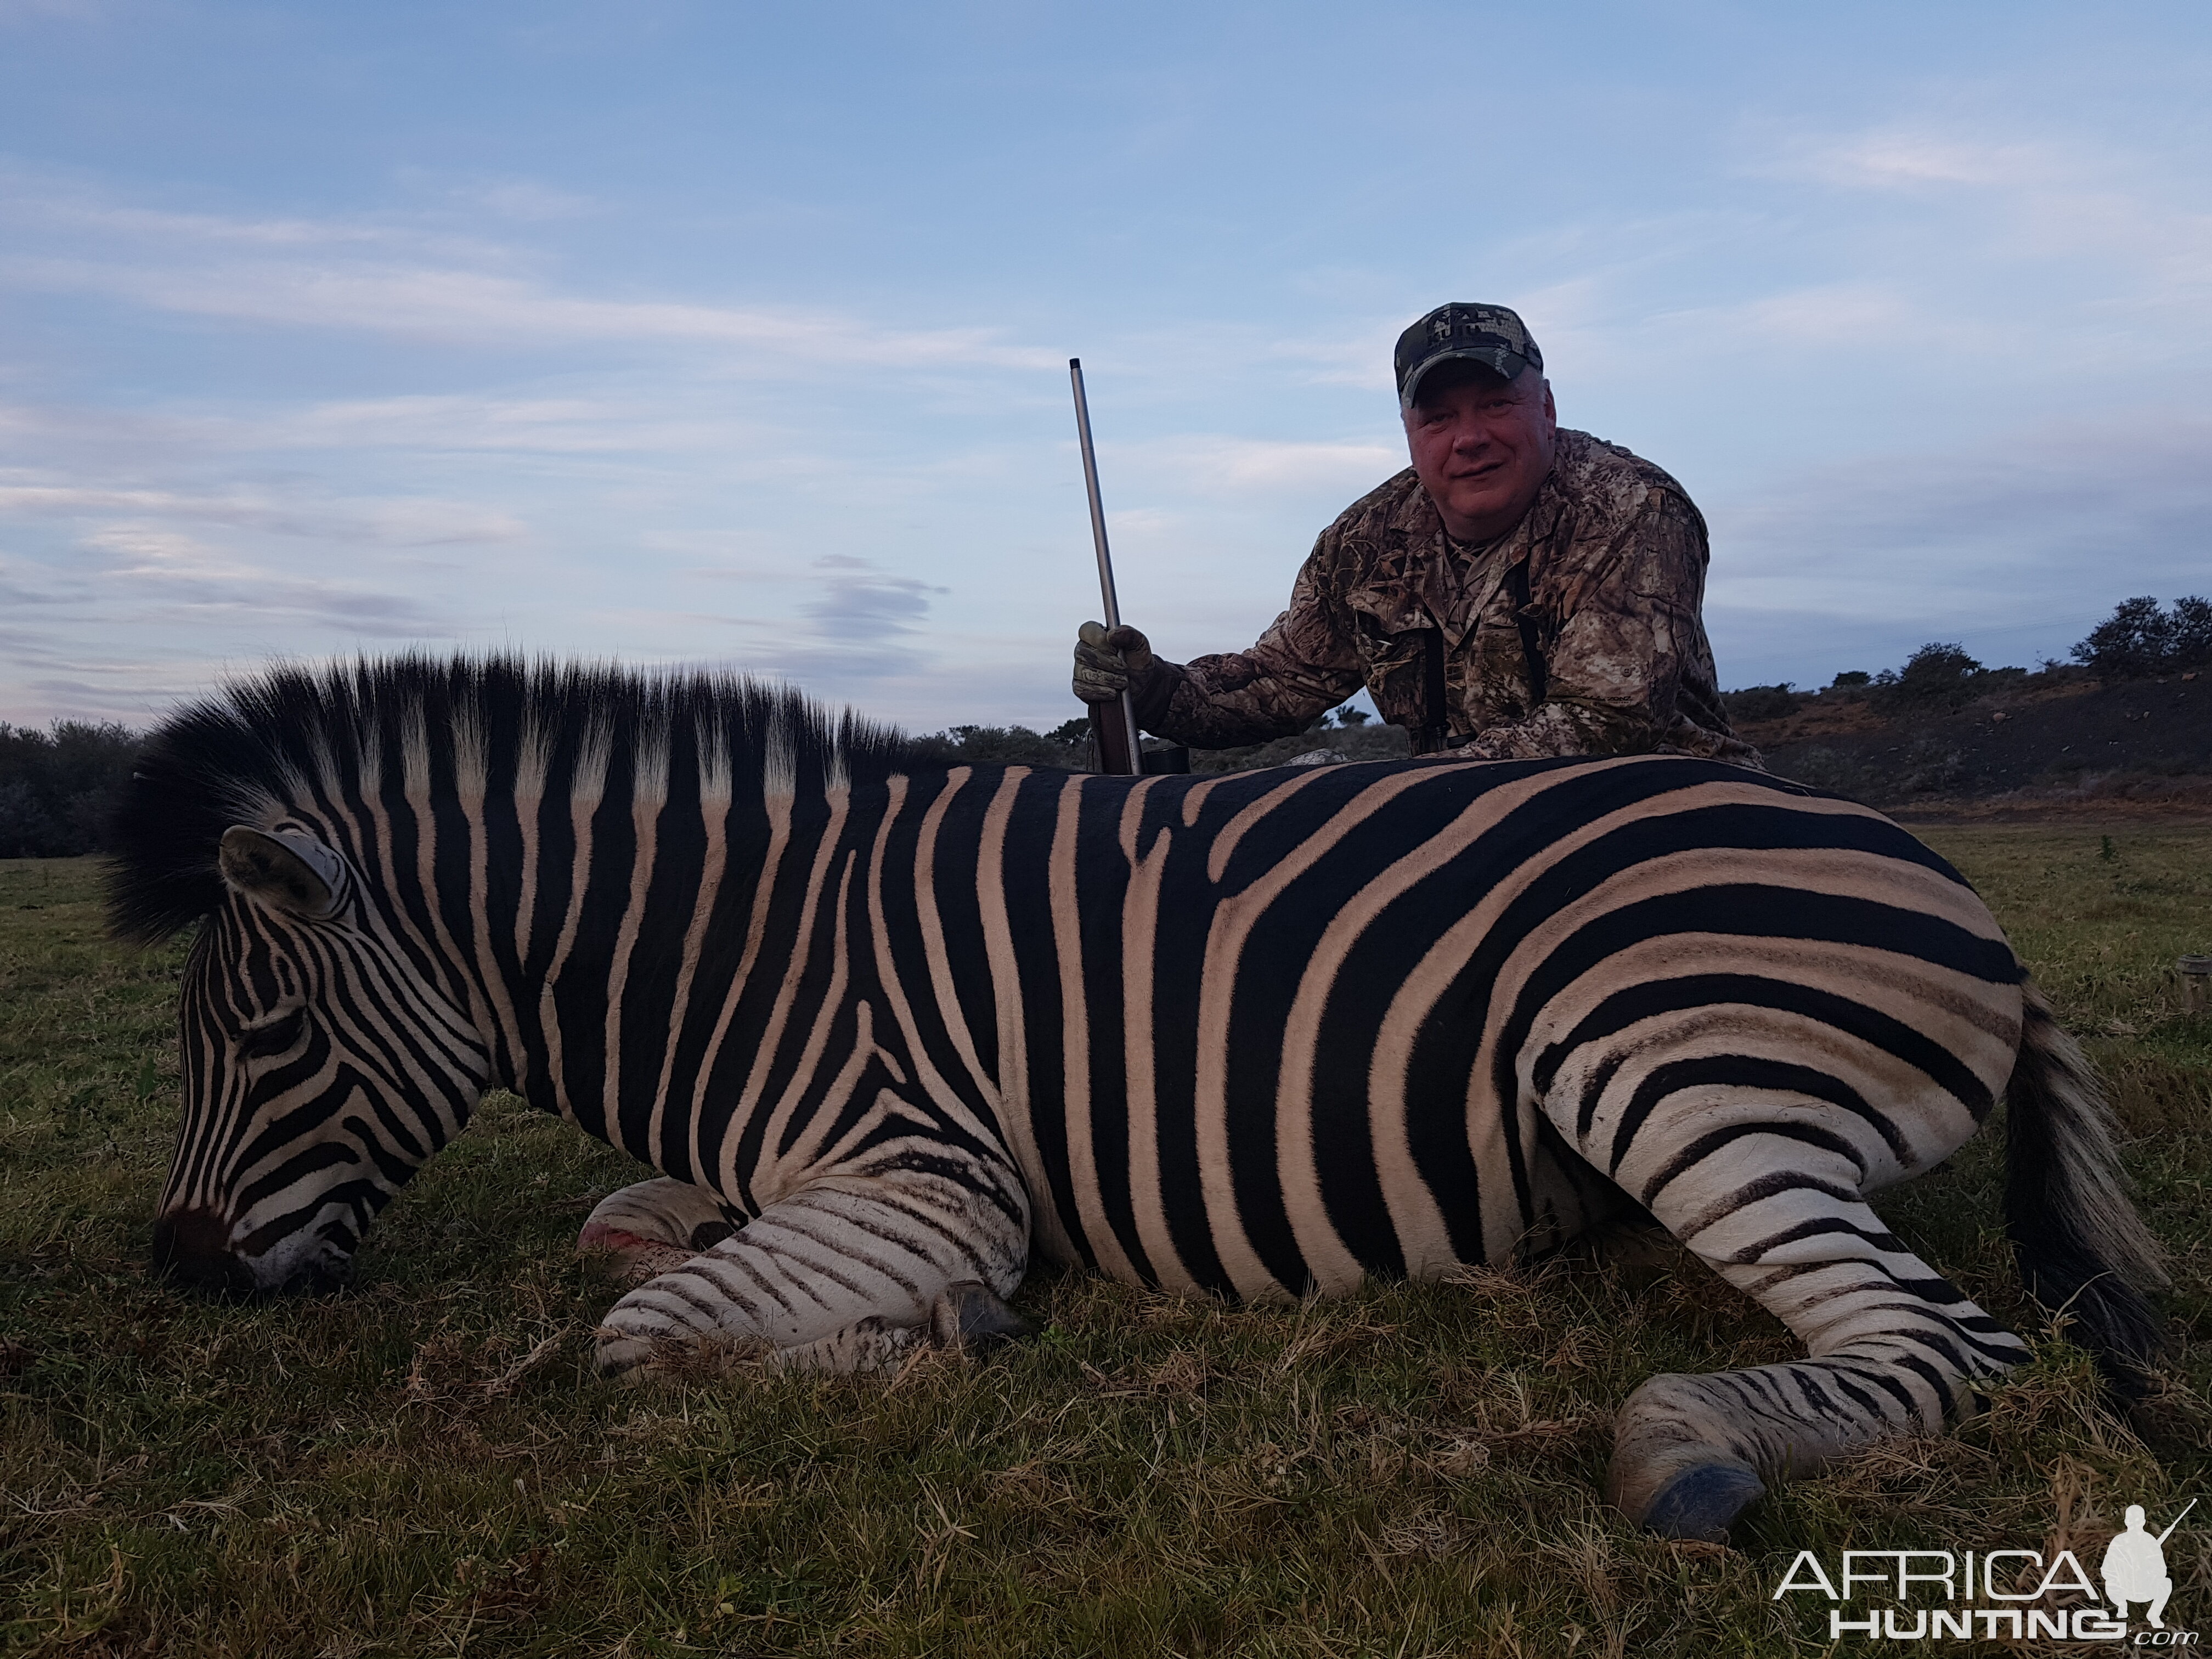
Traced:
<path fill-rule="evenodd" d="M 1002 1301 L 1029 1265 L 1029 1206 L 1004 1170 L 887 1159 L 810 1181 L 745 1228 L 628 1292 L 599 1325 L 599 1374 L 686 1349 L 876 1371 L 918 1345 L 1026 1329 Z"/>

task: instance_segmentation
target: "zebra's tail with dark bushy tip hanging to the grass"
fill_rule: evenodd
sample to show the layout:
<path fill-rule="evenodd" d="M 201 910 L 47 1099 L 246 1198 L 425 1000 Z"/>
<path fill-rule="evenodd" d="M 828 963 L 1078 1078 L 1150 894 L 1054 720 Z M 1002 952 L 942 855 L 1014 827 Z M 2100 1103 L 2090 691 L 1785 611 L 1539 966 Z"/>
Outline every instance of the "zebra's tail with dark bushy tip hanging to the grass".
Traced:
<path fill-rule="evenodd" d="M 2143 1394 L 2166 1345 L 2143 1292 L 2166 1285 L 2163 1248 L 2128 1199 L 2112 1110 L 2088 1057 L 2022 984 L 2020 1060 L 2004 1086 L 2004 1230 L 2028 1294 L 2064 1310 L 2112 1391 Z"/>

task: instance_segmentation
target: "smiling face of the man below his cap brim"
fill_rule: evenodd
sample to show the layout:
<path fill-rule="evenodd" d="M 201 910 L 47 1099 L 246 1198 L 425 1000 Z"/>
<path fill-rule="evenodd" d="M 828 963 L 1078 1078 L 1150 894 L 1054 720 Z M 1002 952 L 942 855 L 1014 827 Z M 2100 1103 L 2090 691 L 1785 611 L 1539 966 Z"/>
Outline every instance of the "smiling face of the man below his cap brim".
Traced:
<path fill-rule="evenodd" d="M 1462 542 L 1489 542 L 1520 522 L 1551 471 L 1557 431 L 1537 369 L 1506 380 L 1480 363 L 1442 363 L 1405 411 L 1413 471 Z"/>

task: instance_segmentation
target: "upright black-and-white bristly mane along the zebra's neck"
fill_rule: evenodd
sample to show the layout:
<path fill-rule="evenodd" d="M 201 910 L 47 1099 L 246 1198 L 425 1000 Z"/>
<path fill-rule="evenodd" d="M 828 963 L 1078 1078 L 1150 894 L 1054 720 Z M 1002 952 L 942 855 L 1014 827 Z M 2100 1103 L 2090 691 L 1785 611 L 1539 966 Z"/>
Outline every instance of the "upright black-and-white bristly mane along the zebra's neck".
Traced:
<path fill-rule="evenodd" d="M 909 770 L 894 728 L 741 675 L 522 657 L 358 657 L 232 679 L 148 737 L 111 821 L 108 927 L 155 945 L 221 902 L 217 845 L 294 801 L 582 774 L 732 803 Z M 478 783 L 482 787 L 482 783 Z"/>

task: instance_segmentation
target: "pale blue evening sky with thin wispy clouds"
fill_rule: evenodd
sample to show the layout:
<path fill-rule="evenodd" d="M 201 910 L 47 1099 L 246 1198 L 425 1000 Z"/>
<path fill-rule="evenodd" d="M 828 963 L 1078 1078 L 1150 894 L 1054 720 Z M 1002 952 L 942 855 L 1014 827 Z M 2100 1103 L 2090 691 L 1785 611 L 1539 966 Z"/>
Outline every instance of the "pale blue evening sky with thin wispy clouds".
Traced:
<path fill-rule="evenodd" d="M 0 0 L 0 721 L 518 650 L 1051 728 L 1250 644 L 1520 310 L 1723 686 L 2212 591 L 2188 4 Z"/>

